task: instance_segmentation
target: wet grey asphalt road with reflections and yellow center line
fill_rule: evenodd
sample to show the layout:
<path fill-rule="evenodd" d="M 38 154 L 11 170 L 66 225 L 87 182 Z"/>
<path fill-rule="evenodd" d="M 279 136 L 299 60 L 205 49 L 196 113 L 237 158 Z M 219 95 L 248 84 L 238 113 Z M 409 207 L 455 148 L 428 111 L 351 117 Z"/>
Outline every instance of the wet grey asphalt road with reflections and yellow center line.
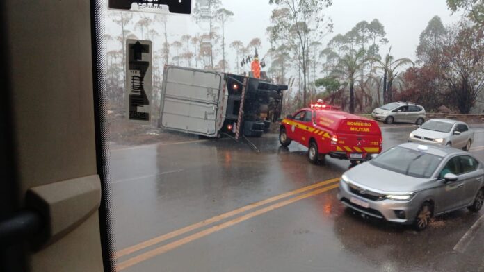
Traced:
<path fill-rule="evenodd" d="M 382 127 L 384 148 L 414 129 Z M 484 146 L 476 129 L 473 148 Z M 484 271 L 484 228 L 454 250 L 484 212 L 452 212 L 424 232 L 364 219 L 337 201 L 330 180 L 348 161 L 309 164 L 307 148 L 282 148 L 275 134 L 252 142 L 260 153 L 231 139 L 111 150 L 118 270 Z M 472 153 L 484 161 L 484 150 Z"/>

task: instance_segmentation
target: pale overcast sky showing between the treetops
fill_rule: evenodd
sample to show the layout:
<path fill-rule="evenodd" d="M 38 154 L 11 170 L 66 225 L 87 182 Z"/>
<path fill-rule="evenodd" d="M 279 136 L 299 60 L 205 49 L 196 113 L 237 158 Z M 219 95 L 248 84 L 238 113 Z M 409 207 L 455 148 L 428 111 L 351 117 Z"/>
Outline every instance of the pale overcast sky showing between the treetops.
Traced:
<path fill-rule="evenodd" d="M 263 46 L 261 53 L 266 53 L 269 46 L 266 27 L 269 25 L 271 10 L 275 6 L 269 5 L 268 0 L 222 0 L 222 3 L 224 8 L 234 12 L 234 18 L 227 24 L 225 31 L 227 46 L 234 40 L 241 40 L 244 44 L 248 44 L 252 38 L 259 37 Z M 322 41 L 323 44 L 338 33 L 344 34 L 350 31 L 362 20 L 371 22 L 376 18 L 385 26 L 389 45 L 392 46 L 392 55 L 396 58 L 408 57 L 412 60 L 419 44 L 419 35 L 432 17 L 438 15 L 444 24 L 451 24 L 460 19 L 459 14 L 451 15 L 445 0 L 333 0 L 332 6 L 325 10 L 325 14 L 332 18 L 334 29 L 333 33 Z M 181 35 L 187 33 L 194 35 L 204 32 L 195 24 L 191 16 L 170 15 L 169 20 L 170 42 L 179 40 Z M 106 24 L 106 27 L 108 32 L 117 31 L 113 24 Z M 131 31 L 134 30 L 131 29 Z M 159 33 L 162 33 L 161 29 Z M 161 37 L 154 40 L 155 49 L 156 44 L 161 44 L 163 41 Z M 229 57 L 234 58 L 232 49 L 227 50 Z M 384 54 L 387 50 L 388 46 L 381 48 L 380 54 Z M 234 60 L 230 62 L 232 67 Z"/>

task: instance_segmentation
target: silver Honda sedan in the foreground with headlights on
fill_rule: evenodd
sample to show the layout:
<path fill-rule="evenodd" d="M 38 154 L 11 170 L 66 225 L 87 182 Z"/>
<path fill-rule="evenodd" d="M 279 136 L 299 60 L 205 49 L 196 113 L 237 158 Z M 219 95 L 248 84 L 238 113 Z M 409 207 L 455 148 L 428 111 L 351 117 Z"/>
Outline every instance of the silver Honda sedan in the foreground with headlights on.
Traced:
<path fill-rule="evenodd" d="M 406 143 L 341 176 L 338 199 L 369 216 L 424 230 L 432 216 L 484 202 L 484 167 L 473 155 L 444 146 Z"/>

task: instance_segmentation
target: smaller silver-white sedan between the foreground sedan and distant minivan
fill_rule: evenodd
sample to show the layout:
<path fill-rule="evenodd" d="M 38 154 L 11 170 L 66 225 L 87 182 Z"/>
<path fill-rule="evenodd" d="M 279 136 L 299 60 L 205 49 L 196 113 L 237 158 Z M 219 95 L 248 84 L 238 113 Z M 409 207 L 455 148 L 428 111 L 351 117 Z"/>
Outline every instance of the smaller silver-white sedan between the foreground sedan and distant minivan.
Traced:
<path fill-rule="evenodd" d="M 412 131 L 408 142 L 441 144 L 468 151 L 474 142 L 474 130 L 462 121 L 431 119 Z"/>

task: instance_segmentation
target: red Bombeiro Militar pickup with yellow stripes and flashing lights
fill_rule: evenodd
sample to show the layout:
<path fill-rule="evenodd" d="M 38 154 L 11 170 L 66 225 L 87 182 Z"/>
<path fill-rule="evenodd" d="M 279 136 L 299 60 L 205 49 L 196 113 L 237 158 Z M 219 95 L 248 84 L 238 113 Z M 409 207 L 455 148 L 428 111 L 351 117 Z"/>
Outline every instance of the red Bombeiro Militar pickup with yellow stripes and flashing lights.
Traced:
<path fill-rule="evenodd" d="M 308 158 L 314 164 L 325 155 L 357 164 L 380 153 L 383 139 L 376 121 L 312 105 L 282 120 L 279 142 L 289 146 L 291 141 L 309 148 Z"/>

